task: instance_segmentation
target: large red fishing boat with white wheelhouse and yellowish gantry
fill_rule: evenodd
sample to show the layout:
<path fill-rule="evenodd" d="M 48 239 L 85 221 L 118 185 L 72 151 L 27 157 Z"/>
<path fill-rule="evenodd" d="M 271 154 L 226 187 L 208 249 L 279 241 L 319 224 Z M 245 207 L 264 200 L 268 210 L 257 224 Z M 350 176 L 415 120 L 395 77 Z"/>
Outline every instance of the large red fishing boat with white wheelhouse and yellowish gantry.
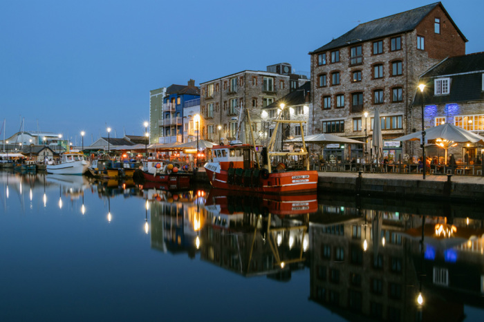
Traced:
<path fill-rule="evenodd" d="M 299 121 L 276 120 L 274 135 L 267 149 L 254 144 L 218 145 L 212 147 L 212 159 L 205 164 L 212 187 L 262 193 L 316 192 L 317 171 L 309 170 L 308 152 L 302 137 L 299 152 L 274 151 L 275 133 L 280 123 Z M 250 126 L 252 128 L 252 126 Z M 302 129 L 302 124 L 301 124 Z M 292 169 L 274 160 L 297 155 L 299 167 Z"/>

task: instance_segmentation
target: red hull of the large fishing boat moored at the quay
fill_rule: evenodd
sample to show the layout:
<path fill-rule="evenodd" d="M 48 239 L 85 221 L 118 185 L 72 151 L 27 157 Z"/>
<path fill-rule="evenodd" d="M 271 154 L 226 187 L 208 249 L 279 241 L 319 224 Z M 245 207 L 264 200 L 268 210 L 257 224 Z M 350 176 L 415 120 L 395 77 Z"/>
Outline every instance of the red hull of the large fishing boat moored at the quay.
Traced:
<path fill-rule="evenodd" d="M 229 176 L 229 172 L 218 169 L 215 172 L 205 167 L 212 187 L 248 192 L 294 194 L 315 192 L 317 190 L 317 171 L 288 171 L 266 173 L 265 176 Z M 244 173 L 245 174 L 245 173 Z"/>

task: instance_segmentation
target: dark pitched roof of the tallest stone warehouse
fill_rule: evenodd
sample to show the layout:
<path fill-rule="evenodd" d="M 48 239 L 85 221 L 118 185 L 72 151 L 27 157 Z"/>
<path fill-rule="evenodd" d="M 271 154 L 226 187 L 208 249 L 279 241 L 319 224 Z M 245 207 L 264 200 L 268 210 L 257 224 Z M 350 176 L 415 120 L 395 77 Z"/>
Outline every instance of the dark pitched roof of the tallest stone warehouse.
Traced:
<path fill-rule="evenodd" d="M 328 44 L 317 48 L 310 54 L 315 54 L 333 48 L 348 46 L 349 44 L 357 44 L 362 41 L 369 41 L 370 39 L 387 37 L 390 35 L 396 35 L 402 32 L 414 30 L 418 26 L 420 21 L 422 21 L 422 19 L 424 19 L 429 14 L 429 12 L 431 12 L 431 10 L 434 10 L 434 8 L 436 8 L 437 6 L 440 6 L 440 8 L 442 8 L 442 10 L 449 18 L 449 21 L 452 22 L 460 36 L 463 37 L 465 41 L 467 41 L 462 32 L 460 32 L 460 30 L 457 28 L 454 21 L 452 21 L 450 16 L 447 14 L 447 11 L 445 10 L 442 3 L 436 2 L 420 8 L 400 12 L 396 15 L 391 15 L 366 23 L 361 23 L 355 28 L 346 32 L 346 34 L 338 37 L 337 39 L 333 39 Z"/>

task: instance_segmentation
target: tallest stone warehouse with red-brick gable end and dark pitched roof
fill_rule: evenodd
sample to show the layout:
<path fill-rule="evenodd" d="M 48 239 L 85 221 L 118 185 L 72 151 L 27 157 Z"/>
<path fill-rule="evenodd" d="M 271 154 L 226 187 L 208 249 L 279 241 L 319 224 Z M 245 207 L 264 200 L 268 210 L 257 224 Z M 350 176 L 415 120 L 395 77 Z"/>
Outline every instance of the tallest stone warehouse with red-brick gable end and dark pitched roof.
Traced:
<path fill-rule="evenodd" d="M 418 77 L 445 57 L 464 55 L 466 41 L 438 2 L 362 23 L 317 48 L 309 53 L 310 133 L 337 133 L 366 142 L 334 152 L 340 160 L 368 159 L 378 108 L 384 153 L 400 158 L 400 142 L 392 139 L 415 127 L 410 114 Z"/>

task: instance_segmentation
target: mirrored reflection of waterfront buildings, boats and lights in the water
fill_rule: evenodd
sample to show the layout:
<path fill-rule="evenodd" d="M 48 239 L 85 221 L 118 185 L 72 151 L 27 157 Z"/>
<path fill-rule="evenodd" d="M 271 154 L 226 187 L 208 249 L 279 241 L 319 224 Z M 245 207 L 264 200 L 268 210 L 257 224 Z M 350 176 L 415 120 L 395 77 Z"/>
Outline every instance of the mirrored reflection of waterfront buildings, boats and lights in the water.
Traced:
<path fill-rule="evenodd" d="M 97 218 L 105 234 L 119 231 L 109 235 L 118 238 L 114 247 L 128 247 L 123 239 L 136 232 L 158 258 L 200 258 L 212 267 L 214 283 L 221 269 L 257 283 L 254 276 L 293 283 L 293 273 L 307 274 L 314 314 L 328 311 L 350 321 L 460 321 L 465 305 L 484 307 L 480 205 L 180 191 L 132 180 L 30 173 L 0 172 L 0 184 L 6 213 L 9 205 L 24 209 L 24 202 L 32 207 L 36 200 L 39 213 L 50 206 L 64 214 L 71 205 L 79 218 L 91 220 L 93 231 Z M 86 192 L 91 198 L 84 198 Z M 6 245 L 16 241 L 6 239 Z"/>

